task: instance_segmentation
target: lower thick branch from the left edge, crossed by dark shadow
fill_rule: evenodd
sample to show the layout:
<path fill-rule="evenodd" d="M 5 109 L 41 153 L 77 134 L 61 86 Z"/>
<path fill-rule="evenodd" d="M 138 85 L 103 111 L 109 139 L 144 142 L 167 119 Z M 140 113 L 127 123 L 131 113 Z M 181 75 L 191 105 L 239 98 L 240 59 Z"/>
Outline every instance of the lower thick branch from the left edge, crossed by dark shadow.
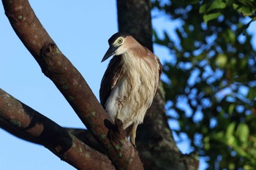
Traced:
<path fill-rule="evenodd" d="M 77 169 L 114 169 L 107 156 L 1 89 L 0 127 L 21 139 L 42 144 Z"/>

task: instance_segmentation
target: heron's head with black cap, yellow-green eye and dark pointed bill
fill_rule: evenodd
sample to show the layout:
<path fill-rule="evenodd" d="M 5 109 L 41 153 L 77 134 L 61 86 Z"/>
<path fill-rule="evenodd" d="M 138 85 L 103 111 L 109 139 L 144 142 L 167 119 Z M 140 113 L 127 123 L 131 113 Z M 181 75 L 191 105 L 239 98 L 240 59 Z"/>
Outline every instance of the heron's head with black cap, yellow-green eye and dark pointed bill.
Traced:
<path fill-rule="evenodd" d="M 118 32 L 113 34 L 113 36 L 108 39 L 108 44 L 110 47 L 102 58 L 102 62 L 110 58 L 110 56 L 121 55 L 127 51 L 126 41 L 129 37 L 129 34 Z"/>

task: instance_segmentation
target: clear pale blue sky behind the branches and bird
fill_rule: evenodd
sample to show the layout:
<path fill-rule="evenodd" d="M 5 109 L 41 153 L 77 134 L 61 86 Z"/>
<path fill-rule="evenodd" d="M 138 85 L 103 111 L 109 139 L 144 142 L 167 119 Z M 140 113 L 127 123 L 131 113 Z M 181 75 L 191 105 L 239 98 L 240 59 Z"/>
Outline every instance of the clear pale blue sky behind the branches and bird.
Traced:
<path fill-rule="evenodd" d="M 42 25 L 64 55 L 83 74 L 98 97 L 108 61 L 100 63 L 108 38 L 116 33 L 116 1 L 30 1 Z M 37 62 L 20 42 L 0 5 L 0 88 L 49 117 L 59 125 L 84 128 L 53 82 L 42 74 Z M 153 20 L 154 28 L 170 31 L 176 26 L 167 18 Z M 250 29 L 255 28 L 251 26 Z M 255 39 L 254 39 L 255 41 Z M 170 58 L 166 49 L 154 45 L 161 61 Z M 45 147 L 31 144 L 0 129 L 1 169 L 74 169 Z M 179 144 L 188 153 L 188 144 Z M 201 163 L 200 169 L 204 169 Z"/>

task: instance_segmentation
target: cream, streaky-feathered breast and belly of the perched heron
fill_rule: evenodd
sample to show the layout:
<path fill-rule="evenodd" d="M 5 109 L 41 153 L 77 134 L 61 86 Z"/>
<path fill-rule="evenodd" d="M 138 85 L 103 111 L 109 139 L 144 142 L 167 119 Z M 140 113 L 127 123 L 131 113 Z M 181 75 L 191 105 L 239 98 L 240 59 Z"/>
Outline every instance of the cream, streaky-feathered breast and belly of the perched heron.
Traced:
<path fill-rule="evenodd" d="M 111 90 L 105 109 L 113 122 L 118 113 L 118 119 L 124 123 L 124 128 L 127 128 L 132 123 L 143 122 L 157 90 L 155 86 L 159 81 L 159 68 L 157 64 L 147 64 L 155 58 L 135 57 L 136 59 L 131 60 L 127 54 L 121 57 L 124 62 L 124 74 Z"/>

